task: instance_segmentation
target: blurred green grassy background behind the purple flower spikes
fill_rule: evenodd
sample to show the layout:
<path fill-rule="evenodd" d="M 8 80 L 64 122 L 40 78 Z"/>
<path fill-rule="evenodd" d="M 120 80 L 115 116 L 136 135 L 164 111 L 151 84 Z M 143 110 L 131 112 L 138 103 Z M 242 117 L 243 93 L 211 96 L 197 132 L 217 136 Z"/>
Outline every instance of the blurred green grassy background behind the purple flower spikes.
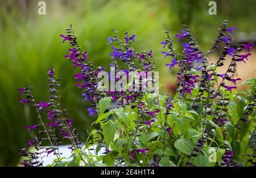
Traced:
<path fill-rule="evenodd" d="M 45 101 L 49 96 L 46 72 L 51 66 L 61 78 L 61 104 L 68 109 L 77 132 L 82 138 L 83 133 L 90 130 L 95 118 L 88 117 L 88 103 L 82 101 L 82 92 L 73 79 L 78 70 L 63 57 L 68 45 L 62 44 L 59 37 L 70 24 L 89 59 L 105 67 L 110 62 L 111 50 L 106 40 L 112 35 L 110 28 L 117 29 L 121 36 L 125 31 L 135 33 L 137 51 L 153 50 L 164 92 L 169 92 L 168 86 L 175 82 L 174 74 L 164 66 L 169 61 L 160 53 L 166 27 L 171 27 L 174 35 L 182 24 L 188 24 L 205 51 L 225 19 L 229 27 L 245 32 L 241 38 L 246 34 L 247 41 L 255 41 L 254 0 L 216 1 L 217 15 L 208 14 L 207 0 L 45 0 L 46 15 L 38 15 L 38 2 L 0 2 L 0 166 L 16 166 L 18 149 L 34 136 L 24 126 L 35 124 L 36 115 L 29 107 L 19 104 L 16 88 L 30 84 L 35 87 L 36 100 Z M 255 56 L 253 60 L 255 66 Z M 250 75 L 255 75 L 254 70 L 249 71 L 247 78 Z"/>

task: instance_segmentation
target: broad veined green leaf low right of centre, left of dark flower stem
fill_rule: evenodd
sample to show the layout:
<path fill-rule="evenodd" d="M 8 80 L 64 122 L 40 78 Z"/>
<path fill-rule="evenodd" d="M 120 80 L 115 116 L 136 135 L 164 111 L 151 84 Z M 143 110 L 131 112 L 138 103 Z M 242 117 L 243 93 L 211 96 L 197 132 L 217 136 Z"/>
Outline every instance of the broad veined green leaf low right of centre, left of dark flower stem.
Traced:
<path fill-rule="evenodd" d="M 193 143 L 190 139 L 180 138 L 175 143 L 174 146 L 177 150 L 183 152 L 184 154 L 190 155 L 193 150 Z"/>

